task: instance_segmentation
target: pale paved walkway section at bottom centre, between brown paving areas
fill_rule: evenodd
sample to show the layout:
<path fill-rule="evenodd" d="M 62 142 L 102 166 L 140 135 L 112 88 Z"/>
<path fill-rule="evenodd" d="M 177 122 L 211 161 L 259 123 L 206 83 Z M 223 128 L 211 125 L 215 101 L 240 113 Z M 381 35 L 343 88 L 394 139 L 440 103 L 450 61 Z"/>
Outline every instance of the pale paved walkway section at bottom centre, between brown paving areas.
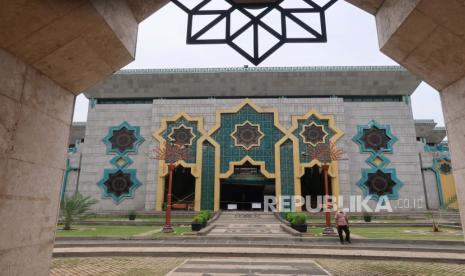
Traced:
<path fill-rule="evenodd" d="M 312 260 L 276 258 L 189 259 L 168 276 L 331 275 Z"/>

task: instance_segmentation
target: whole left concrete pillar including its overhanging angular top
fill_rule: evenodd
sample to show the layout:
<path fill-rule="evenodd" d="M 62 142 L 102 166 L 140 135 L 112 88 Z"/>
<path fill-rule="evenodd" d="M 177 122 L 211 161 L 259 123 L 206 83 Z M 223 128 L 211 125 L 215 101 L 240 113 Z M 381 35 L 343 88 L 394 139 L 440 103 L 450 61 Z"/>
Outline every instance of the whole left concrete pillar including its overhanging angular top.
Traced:
<path fill-rule="evenodd" d="M 169 0 L 0 2 L 0 274 L 48 275 L 74 95 L 134 60 Z"/>

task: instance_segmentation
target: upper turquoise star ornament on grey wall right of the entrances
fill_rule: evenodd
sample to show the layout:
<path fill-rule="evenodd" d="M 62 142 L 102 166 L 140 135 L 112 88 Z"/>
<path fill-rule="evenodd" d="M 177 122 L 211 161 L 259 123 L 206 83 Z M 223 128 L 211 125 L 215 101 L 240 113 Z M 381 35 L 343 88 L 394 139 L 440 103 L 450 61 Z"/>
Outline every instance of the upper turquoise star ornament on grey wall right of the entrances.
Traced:
<path fill-rule="evenodd" d="M 392 153 L 397 138 L 392 135 L 388 125 L 371 121 L 368 125 L 357 126 L 357 135 L 354 136 L 353 141 L 360 145 L 360 152 L 378 154 Z"/>

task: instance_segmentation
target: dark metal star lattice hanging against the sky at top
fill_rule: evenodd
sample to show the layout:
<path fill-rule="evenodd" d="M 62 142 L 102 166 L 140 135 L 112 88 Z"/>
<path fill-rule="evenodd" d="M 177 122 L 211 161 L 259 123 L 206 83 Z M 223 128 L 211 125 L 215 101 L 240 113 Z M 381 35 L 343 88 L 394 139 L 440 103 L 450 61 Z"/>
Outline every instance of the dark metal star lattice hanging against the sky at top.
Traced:
<path fill-rule="evenodd" d="M 188 15 L 187 44 L 229 45 L 258 65 L 286 43 L 326 42 L 325 11 L 337 0 L 172 2 Z"/>

